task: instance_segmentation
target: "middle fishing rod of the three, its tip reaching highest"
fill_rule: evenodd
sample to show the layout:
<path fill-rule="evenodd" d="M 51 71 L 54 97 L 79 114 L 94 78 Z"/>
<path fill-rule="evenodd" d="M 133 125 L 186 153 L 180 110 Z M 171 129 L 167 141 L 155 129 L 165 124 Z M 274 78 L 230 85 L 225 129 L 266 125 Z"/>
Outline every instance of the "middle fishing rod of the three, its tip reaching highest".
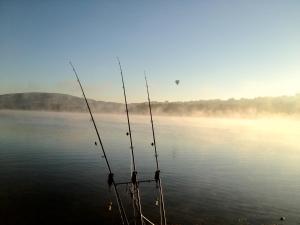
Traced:
<path fill-rule="evenodd" d="M 135 206 L 137 207 L 137 211 L 140 216 L 141 224 L 144 224 L 144 217 L 142 214 L 141 198 L 140 198 L 140 191 L 139 191 L 139 187 L 138 187 L 137 171 L 136 171 L 133 144 L 132 144 L 132 134 L 131 134 L 131 127 L 130 127 L 130 120 L 129 120 L 129 112 L 128 112 L 127 97 L 126 97 L 126 89 L 125 89 L 125 84 L 124 84 L 123 70 L 122 70 L 122 66 L 121 66 L 121 63 L 120 63 L 120 60 L 118 57 L 117 57 L 117 60 L 118 60 L 119 69 L 120 69 L 121 78 L 122 78 L 125 109 L 126 109 L 126 115 L 127 115 L 128 132 L 126 134 L 129 135 L 129 139 L 130 139 L 131 159 L 132 159 L 132 166 L 133 166 L 133 171 L 131 174 L 131 182 L 132 182 L 132 186 L 133 186 L 133 195 L 132 196 L 133 196 L 133 202 L 136 201 L 136 203 L 133 203 L 133 204 L 135 204 Z M 134 207 L 134 213 L 135 213 L 135 207 Z M 135 223 L 136 223 L 136 221 L 135 221 Z"/>

